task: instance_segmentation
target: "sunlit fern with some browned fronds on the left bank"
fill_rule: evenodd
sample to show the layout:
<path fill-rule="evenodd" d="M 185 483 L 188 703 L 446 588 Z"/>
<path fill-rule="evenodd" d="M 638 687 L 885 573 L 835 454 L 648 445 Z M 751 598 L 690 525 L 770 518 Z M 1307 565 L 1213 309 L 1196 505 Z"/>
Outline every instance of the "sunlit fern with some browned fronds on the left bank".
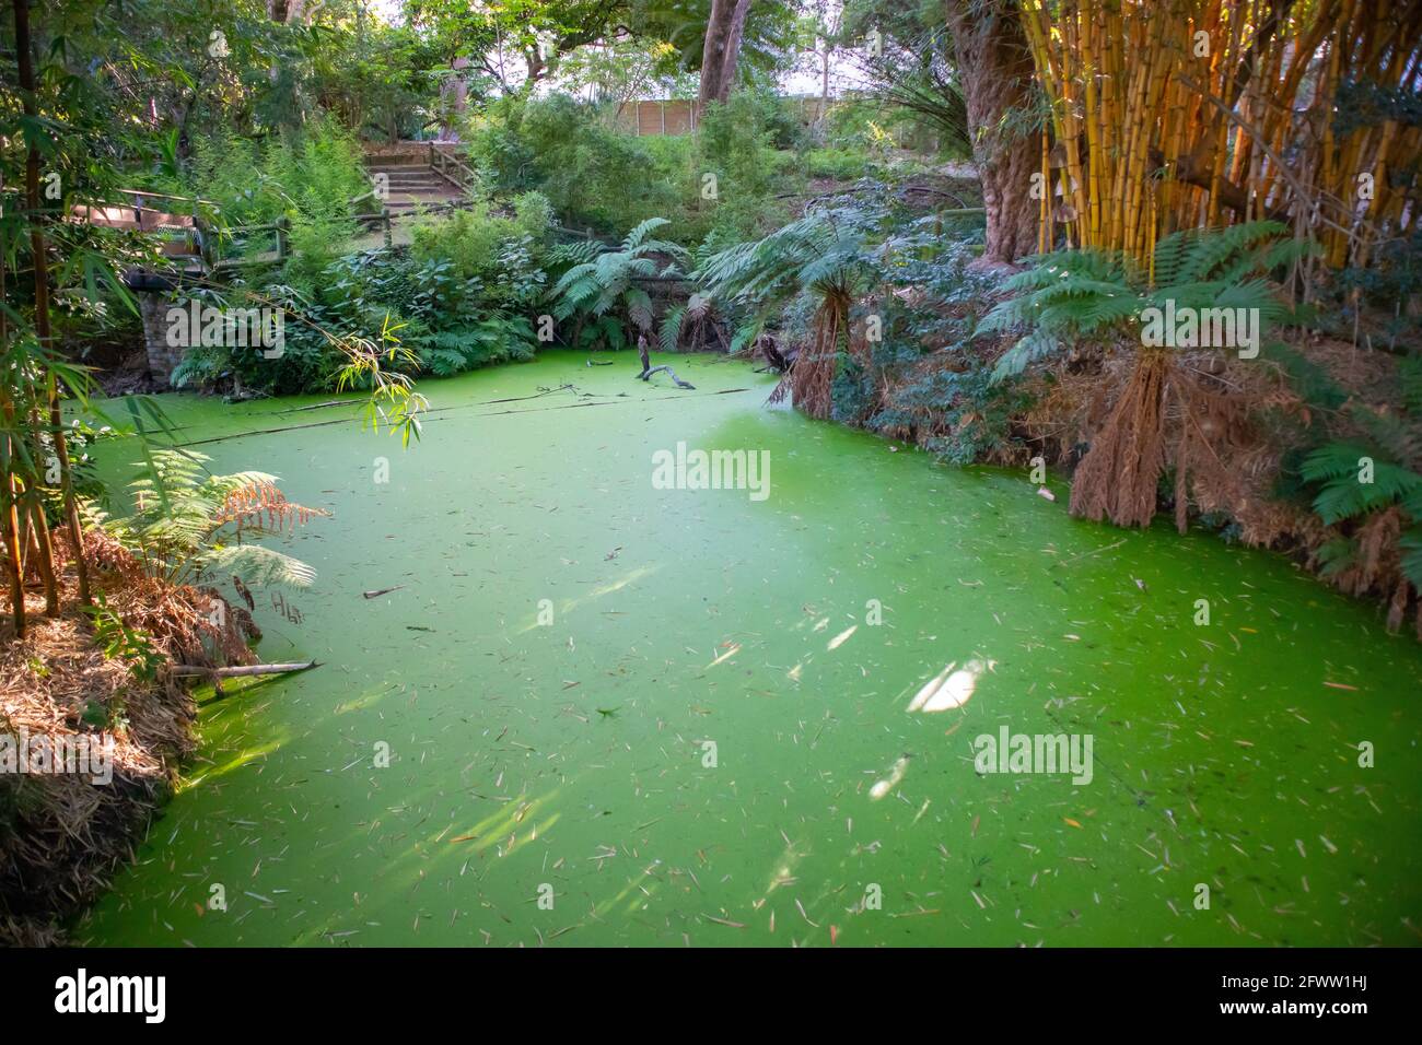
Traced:
<path fill-rule="evenodd" d="M 249 584 L 306 587 L 316 570 L 245 539 L 283 533 L 324 509 L 286 499 L 266 472 L 212 475 L 202 454 L 155 451 L 129 486 L 134 513 L 108 522 L 145 570 L 173 584 L 235 574 Z"/>

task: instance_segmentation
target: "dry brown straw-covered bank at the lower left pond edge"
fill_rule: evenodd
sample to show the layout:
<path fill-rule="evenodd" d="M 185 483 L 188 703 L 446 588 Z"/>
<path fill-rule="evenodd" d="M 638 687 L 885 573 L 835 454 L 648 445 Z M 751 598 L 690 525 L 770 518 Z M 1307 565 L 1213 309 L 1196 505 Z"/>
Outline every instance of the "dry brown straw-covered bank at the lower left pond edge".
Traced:
<path fill-rule="evenodd" d="M 208 623 L 215 591 L 154 580 L 101 530 L 87 535 L 85 550 L 109 609 L 146 634 L 166 663 L 155 681 L 144 682 L 127 663 L 105 657 L 78 610 L 70 572 L 61 616 L 46 617 L 43 590 L 27 586 L 26 637 L 16 640 L 9 616 L 0 620 L 0 732 L 107 734 L 114 744 L 108 785 L 77 775 L 0 775 L 0 944 L 61 943 L 64 923 L 132 860 L 195 745 L 196 708 L 168 664 L 253 660 L 245 638 L 255 628 L 245 611 L 226 607 L 222 630 Z M 85 721 L 87 709 L 91 719 L 102 709 L 108 727 Z"/>

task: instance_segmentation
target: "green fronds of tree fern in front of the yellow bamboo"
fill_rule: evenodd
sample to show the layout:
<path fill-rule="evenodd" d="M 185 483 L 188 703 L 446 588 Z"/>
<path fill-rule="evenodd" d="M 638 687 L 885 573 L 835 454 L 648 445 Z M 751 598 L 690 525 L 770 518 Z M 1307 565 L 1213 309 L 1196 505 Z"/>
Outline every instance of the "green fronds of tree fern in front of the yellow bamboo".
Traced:
<path fill-rule="evenodd" d="M 1278 222 L 1249 222 L 1210 232 L 1182 230 L 1156 245 L 1153 284 L 1121 254 L 1065 250 L 1030 259 L 1027 272 L 1004 290 L 1014 297 L 990 311 L 983 333 L 1028 331 L 997 363 L 995 381 L 1021 374 L 1038 360 L 1084 338 L 1135 336 L 1146 309 L 1257 309 L 1260 327 L 1285 321 L 1291 311 L 1264 274 L 1308 250 L 1278 240 Z"/>

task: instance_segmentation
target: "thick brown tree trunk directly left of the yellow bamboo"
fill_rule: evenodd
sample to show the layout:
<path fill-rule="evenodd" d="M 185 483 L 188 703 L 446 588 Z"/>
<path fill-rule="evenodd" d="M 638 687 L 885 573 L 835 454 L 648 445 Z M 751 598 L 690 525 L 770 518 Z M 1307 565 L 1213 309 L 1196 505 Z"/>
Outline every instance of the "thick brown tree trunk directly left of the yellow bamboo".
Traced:
<path fill-rule="evenodd" d="M 1037 252 L 1038 203 L 1032 173 L 1041 162 L 1037 135 L 1004 132 L 1003 117 L 1031 102 L 1032 55 L 1012 0 L 946 0 L 967 105 L 973 161 L 983 179 L 990 262 Z"/>

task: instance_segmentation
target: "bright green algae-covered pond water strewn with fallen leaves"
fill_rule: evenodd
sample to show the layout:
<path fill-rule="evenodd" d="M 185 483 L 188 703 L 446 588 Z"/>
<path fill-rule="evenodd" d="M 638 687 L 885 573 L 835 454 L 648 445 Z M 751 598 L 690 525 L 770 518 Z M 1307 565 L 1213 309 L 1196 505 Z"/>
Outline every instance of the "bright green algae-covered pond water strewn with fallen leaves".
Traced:
<path fill-rule="evenodd" d="M 695 391 L 630 355 L 427 382 L 408 451 L 316 398 L 165 400 L 333 513 L 279 542 L 316 583 L 256 593 L 262 657 L 321 667 L 205 704 L 77 937 L 1418 943 L 1422 648 L 1375 607 L 674 363 Z M 678 442 L 765 451 L 768 496 L 658 489 Z M 1089 735 L 1091 779 L 980 772 L 1003 729 Z"/>

